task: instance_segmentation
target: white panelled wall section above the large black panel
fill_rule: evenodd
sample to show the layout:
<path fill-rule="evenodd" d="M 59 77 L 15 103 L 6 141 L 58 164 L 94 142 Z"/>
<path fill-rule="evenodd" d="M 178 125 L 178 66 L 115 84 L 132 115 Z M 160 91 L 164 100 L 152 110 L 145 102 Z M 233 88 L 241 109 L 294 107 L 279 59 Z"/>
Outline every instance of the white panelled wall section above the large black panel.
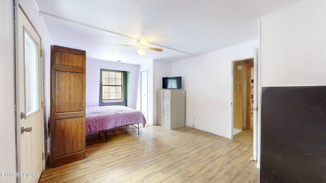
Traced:
<path fill-rule="evenodd" d="M 326 1 L 303 1 L 260 22 L 262 86 L 326 84 Z"/>

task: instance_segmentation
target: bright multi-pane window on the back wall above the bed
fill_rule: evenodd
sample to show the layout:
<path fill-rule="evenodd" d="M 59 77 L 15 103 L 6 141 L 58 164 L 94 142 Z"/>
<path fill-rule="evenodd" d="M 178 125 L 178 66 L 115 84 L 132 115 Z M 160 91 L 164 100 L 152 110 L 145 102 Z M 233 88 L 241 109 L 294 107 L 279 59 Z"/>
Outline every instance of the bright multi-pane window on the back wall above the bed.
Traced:
<path fill-rule="evenodd" d="M 123 72 L 101 70 L 102 101 L 123 100 Z"/>

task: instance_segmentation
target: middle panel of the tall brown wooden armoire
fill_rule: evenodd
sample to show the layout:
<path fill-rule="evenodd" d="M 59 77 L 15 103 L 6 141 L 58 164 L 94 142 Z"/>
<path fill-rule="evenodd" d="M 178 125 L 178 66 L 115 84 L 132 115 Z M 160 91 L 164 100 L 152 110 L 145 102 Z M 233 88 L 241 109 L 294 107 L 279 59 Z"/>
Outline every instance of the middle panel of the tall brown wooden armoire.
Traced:
<path fill-rule="evenodd" d="M 83 81 L 83 73 L 56 71 L 56 114 L 84 111 Z"/>

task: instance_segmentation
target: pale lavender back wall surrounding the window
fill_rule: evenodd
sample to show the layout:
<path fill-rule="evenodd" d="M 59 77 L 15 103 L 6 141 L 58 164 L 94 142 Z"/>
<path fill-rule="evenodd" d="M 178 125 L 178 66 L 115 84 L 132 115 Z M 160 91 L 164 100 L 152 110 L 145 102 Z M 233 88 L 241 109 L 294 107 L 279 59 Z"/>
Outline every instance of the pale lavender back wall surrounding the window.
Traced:
<path fill-rule="evenodd" d="M 99 105 L 100 69 L 130 72 L 128 107 L 137 108 L 139 66 L 93 58 L 86 58 L 86 107 Z"/>

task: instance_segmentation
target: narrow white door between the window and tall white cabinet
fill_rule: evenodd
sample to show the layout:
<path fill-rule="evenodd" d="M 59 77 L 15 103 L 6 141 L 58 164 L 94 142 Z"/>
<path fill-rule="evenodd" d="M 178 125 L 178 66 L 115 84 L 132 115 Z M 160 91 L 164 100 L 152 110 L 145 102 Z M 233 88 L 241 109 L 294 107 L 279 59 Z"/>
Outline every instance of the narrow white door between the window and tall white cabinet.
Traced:
<path fill-rule="evenodd" d="M 147 71 L 141 72 L 141 111 L 148 121 Z"/>

